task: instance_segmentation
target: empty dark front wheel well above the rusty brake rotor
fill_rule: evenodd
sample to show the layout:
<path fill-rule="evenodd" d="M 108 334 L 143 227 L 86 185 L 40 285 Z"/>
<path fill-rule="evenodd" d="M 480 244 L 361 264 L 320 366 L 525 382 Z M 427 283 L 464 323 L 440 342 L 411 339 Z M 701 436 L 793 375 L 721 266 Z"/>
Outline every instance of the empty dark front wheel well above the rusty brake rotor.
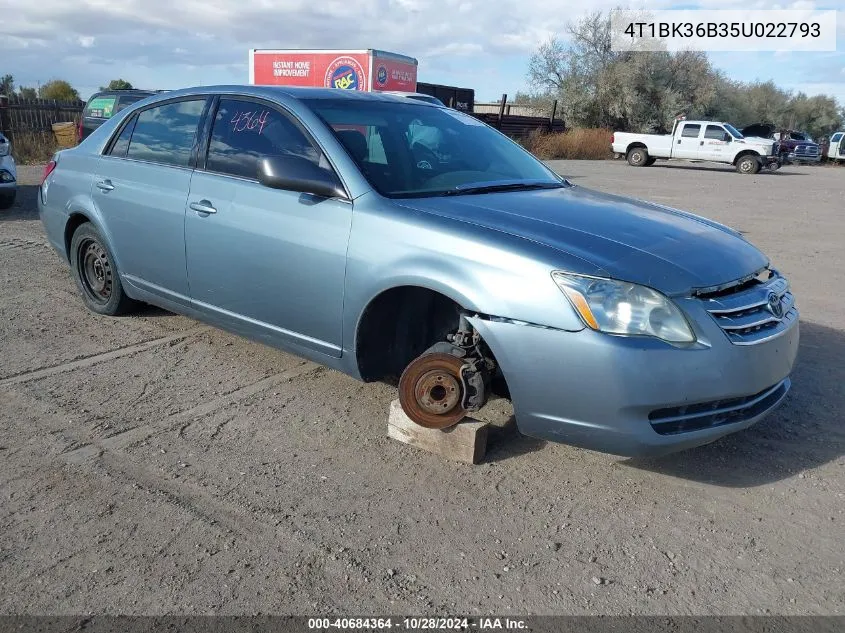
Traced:
<path fill-rule="evenodd" d="M 461 306 L 418 286 L 386 290 L 364 309 L 355 352 L 367 381 L 396 380 L 414 358 L 458 326 Z"/>

